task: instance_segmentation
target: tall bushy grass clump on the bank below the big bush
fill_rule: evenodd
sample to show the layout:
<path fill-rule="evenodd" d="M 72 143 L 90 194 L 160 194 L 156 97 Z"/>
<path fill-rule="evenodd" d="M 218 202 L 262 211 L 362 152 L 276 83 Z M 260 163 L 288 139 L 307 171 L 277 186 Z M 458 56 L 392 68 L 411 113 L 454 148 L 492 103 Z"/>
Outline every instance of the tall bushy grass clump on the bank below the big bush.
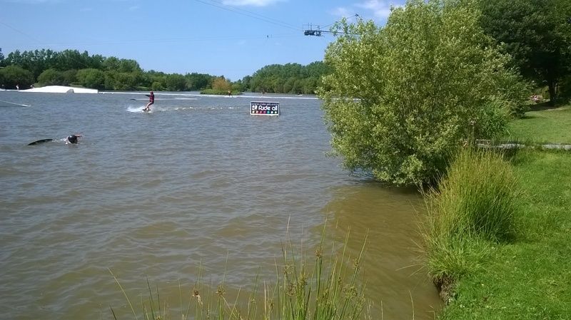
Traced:
<path fill-rule="evenodd" d="M 472 148 L 460 150 L 438 189 L 426 192 L 428 269 L 445 300 L 455 281 L 482 267 L 493 244 L 512 237 L 519 195 L 502 155 Z"/>

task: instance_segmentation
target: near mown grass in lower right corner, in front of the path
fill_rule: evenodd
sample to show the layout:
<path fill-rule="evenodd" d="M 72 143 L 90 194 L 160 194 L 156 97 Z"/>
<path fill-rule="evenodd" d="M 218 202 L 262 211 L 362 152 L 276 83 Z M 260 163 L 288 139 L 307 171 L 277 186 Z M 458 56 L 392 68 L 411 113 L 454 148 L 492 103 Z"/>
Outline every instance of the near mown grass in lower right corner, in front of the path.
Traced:
<path fill-rule="evenodd" d="M 440 319 L 570 319 L 571 154 L 525 152 L 517 239 L 460 279 Z"/>

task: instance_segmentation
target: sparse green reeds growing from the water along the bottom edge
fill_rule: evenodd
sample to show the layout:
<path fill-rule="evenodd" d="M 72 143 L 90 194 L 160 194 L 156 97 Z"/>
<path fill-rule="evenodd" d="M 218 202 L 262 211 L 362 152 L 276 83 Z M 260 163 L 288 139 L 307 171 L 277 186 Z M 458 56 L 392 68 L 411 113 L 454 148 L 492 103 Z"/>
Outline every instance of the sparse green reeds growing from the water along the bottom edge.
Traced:
<path fill-rule="evenodd" d="M 291 240 L 283 245 L 281 261 L 276 262 L 276 279 L 263 281 L 260 273 L 251 285 L 246 300 L 241 298 L 241 290 L 229 301 L 225 288 L 226 267 L 221 284 L 213 291 L 213 286 L 203 284 L 202 271 L 199 268 L 198 280 L 190 289 L 190 294 L 183 293 L 179 284 L 181 319 L 218 319 L 218 320 L 334 320 L 361 319 L 365 306 L 365 284 L 360 279 L 360 262 L 363 259 L 366 237 L 357 257 L 350 257 L 347 252 L 349 232 L 338 252 L 338 245 L 331 251 L 324 252 L 325 227 L 320 243 L 315 249 L 313 260 L 308 254 L 296 252 Z M 111 272 L 111 270 L 109 270 Z M 147 280 L 148 297 L 141 296 L 141 312 L 137 313 L 131 299 L 111 272 L 116 284 L 125 296 L 131 308 L 133 319 L 141 316 L 144 320 L 171 319 L 171 308 L 167 302 L 159 299 L 158 289 L 153 293 Z M 188 299 L 183 302 L 183 299 Z M 111 308 L 114 319 L 116 312 Z M 178 318 L 178 316 L 177 316 Z"/>

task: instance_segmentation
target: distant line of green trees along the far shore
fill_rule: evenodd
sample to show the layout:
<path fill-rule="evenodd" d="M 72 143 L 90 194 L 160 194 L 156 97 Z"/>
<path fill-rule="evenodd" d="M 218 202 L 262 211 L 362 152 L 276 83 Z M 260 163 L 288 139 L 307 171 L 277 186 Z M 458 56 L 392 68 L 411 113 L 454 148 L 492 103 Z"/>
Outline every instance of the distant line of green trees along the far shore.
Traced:
<path fill-rule="evenodd" d="M 254 91 L 273 93 L 314 93 L 327 72 L 323 62 L 271 65 L 252 76 L 230 81 L 206 73 L 163 73 L 143 71 L 132 59 L 90 55 L 87 51 L 41 49 L 0 52 L 0 83 L 3 88 L 38 86 L 84 86 L 99 90 Z"/>

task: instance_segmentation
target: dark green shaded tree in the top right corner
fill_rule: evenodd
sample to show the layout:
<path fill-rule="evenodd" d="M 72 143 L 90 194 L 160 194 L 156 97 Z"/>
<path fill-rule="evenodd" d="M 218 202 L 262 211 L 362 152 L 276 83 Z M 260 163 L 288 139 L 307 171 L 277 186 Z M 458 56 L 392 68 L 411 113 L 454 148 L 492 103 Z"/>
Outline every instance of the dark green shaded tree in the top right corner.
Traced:
<path fill-rule="evenodd" d="M 480 1 L 485 32 L 504 43 L 505 52 L 525 78 L 549 87 L 551 102 L 557 84 L 571 73 L 571 1 Z"/>

